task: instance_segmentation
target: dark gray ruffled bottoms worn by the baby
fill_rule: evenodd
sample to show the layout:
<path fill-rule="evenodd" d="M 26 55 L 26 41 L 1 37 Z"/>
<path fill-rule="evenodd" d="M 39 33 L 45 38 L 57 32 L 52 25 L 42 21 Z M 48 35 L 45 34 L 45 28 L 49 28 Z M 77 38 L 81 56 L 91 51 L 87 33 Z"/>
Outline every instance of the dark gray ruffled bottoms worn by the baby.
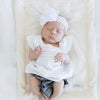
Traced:
<path fill-rule="evenodd" d="M 40 92 L 45 94 L 48 98 L 50 96 L 52 96 L 54 81 L 48 80 L 48 79 L 41 77 L 39 75 L 36 75 L 36 74 L 32 74 L 32 76 L 35 76 L 39 80 Z M 65 85 L 67 85 L 68 82 L 67 82 L 67 79 L 63 79 L 63 80 L 64 80 L 64 87 L 65 87 Z"/>

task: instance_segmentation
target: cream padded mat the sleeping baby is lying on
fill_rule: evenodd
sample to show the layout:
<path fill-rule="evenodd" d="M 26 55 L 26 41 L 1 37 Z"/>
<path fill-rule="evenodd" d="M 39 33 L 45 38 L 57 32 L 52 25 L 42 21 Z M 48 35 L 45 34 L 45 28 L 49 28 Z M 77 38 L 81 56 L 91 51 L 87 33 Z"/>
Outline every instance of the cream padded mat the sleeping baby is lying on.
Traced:
<path fill-rule="evenodd" d="M 75 74 L 69 79 L 69 86 L 65 88 L 64 94 L 57 100 L 94 100 L 97 96 L 97 56 L 93 0 L 16 0 L 17 85 L 21 99 L 38 100 L 32 95 L 27 84 L 30 76 L 25 74 L 25 66 L 28 62 L 26 36 L 40 34 L 38 19 L 48 6 L 59 10 L 69 21 L 69 33 L 76 38 L 85 56 L 85 63 L 75 62 Z M 76 47 L 75 50 L 77 49 Z M 74 56 L 72 58 L 74 59 Z"/>

